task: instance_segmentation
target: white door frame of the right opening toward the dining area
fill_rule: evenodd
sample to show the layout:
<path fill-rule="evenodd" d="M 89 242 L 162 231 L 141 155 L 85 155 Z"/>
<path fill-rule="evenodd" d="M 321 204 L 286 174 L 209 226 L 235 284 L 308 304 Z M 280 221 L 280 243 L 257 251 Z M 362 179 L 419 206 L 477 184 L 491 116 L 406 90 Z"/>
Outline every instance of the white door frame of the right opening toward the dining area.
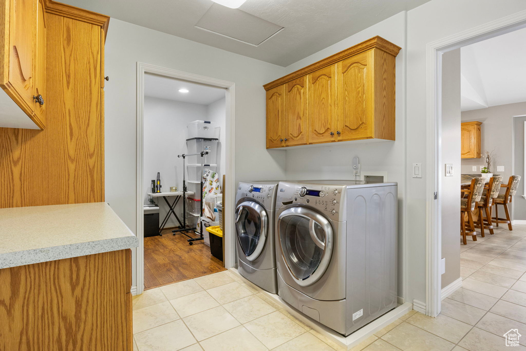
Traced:
<path fill-rule="evenodd" d="M 441 293 L 441 86 L 442 54 L 462 46 L 512 32 L 526 26 L 526 11 L 500 18 L 439 41 L 429 43 L 427 51 L 427 228 L 426 228 L 426 314 L 440 313 Z M 438 199 L 434 200 L 435 192 Z"/>

